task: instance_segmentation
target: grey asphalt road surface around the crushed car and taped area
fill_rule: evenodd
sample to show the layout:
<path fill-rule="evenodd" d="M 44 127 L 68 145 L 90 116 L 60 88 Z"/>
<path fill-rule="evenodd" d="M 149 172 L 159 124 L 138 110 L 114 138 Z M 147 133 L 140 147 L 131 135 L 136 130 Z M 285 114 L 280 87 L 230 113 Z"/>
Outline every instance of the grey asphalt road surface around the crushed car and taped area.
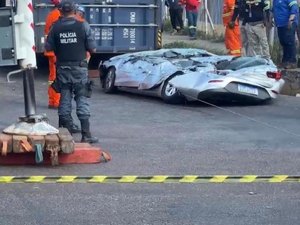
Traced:
<path fill-rule="evenodd" d="M 16 82 L 7 84 L 5 73 L 10 70 L 0 70 L 1 128 L 24 114 L 22 79 L 16 75 Z M 38 113 L 46 113 L 56 126 L 57 113 L 47 108 L 43 70 L 36 72 L 35 90 Z M 200 103 L 167 105 L 133 94 L 105 95 L 97 81 L 91 99 L 92 132 L 112 154 L 111 162 L 2 166 L 0 175 L 300 174 L 298 98 L 223 107 L 227 111 Z M 299 186 L 4 184 L 0 224 L 294 225 L 300 218 Z"/>

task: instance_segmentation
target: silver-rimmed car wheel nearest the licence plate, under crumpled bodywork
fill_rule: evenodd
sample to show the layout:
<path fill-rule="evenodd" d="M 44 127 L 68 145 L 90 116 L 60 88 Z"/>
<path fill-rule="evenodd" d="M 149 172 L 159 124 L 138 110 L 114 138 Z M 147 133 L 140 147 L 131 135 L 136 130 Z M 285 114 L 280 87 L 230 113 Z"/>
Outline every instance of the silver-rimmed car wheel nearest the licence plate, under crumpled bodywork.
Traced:
<path fill-rule="evenodd" d="M 161 97 L 164 100 L 164 102 L 168 104 L 182 104 L 185 101 L 185 98 L 183 95 L 180 94 L 180 92 L 170 84 L 170 80 L 174 78 L 170 77 L 164 82 L 164 85 L 161 90 Z"/>

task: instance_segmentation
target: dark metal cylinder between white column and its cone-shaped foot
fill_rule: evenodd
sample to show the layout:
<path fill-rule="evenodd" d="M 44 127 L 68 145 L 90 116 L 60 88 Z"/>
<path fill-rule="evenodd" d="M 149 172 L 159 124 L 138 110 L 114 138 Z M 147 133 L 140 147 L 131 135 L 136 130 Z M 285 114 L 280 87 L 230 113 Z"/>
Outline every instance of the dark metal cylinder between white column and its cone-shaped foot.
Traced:
<path fill-rule="evenodd" d="M 34 73 L 32 68 L 23 72 L 23 90 L 25 103 L 25 116 L 36 114 L 35 91 L 34 91 Z"/>

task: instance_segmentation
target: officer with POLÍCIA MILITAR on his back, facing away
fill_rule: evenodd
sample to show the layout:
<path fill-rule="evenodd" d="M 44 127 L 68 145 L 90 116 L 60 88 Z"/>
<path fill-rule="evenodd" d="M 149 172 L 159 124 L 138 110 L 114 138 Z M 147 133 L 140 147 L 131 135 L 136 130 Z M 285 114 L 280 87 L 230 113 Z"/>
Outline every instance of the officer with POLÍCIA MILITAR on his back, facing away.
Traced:
<path fill-rule="evenodd" d="M 76 114 L 81 123 L 81 142 L 96 143 L 90 132 L 91 94 L 88 79 L 86 52 L 96 51 L 96 42 L 88 23 L 78 21 L 75 4 L 68 0 L 61 3 L 62 17 L 52 26 L 45 49 L 54 51 L 57 57 L 57 77 L 54 88 L 61 93 L 58 108 L 59 125 L 71 132 L 72 98 L 76 101 Z"/>

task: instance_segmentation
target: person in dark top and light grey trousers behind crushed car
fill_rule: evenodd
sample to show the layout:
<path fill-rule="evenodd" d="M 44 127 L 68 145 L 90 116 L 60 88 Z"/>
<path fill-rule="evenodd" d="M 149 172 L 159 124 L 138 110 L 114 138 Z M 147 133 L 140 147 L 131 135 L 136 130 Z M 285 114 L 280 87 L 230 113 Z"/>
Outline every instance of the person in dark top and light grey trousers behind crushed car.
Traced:
<path fill-rule="evenodd" d="M 239 15 L 243 17 L 248 39 L 247 56 L 262 55 L 271 58 L 266 22 L 270 20 L 270 0 L 236 0 L 231 26 Z"/>

